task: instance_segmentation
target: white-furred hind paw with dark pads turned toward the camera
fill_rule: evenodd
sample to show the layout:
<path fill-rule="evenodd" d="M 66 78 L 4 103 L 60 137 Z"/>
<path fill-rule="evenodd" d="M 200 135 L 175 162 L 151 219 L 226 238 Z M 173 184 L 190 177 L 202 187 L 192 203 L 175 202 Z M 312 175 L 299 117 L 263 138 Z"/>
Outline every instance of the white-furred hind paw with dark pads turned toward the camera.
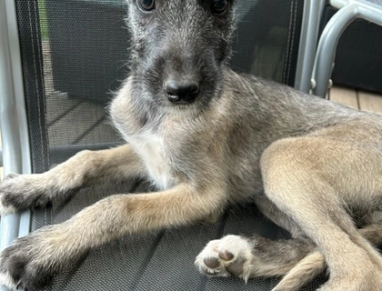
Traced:
<path fill-rule="evenodd" d="M 251 275 L 253 246 L 242 236 L 225 236 L 210 241 L 196 256 L 196 267 L 206 276 L 238 276 L 245 281 Z"/>

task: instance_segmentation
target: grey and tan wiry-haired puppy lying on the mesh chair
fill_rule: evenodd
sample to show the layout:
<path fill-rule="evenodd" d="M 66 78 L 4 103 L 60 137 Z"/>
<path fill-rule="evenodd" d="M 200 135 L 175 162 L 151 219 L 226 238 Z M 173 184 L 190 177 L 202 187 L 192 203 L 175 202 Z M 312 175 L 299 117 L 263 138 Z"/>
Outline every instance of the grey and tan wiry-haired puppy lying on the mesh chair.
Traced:
<path fill-rule="evenodd" d="M 275 288 L 286 291 L 327 267 L 321 290 L 380 290 L 382 260 L 370 242 L 382 242 L 381 115 L 231 71 L 235 0 L 221 14 L 209 0 L 157 0 L 151 12 L 137 2 L 128 0 L 132 73 L 110 106 L 128 145 L 85 151 L 45 174 L 5 180 L 1 211 L 64 200 L 111 178 L 145 176 L 159 191 L 110 196 L 17 239 L 1 253 L 1 282 L 45 286 L 89 248 L 213 221 L 229 204 L 255 201 L 295 238 L 226 236 L 197 256 L 202 272 L 286 275 Z M 194 102 L 174 102 L 168 91 L 174 84 L 197 88 Z"/>

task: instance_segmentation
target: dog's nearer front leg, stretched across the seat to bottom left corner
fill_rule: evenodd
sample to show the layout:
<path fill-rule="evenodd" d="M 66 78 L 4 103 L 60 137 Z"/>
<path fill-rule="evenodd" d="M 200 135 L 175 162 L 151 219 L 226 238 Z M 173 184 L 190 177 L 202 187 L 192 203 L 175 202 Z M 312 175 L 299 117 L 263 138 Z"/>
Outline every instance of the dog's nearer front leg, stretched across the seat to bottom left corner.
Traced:
<path fill-rule="evenodd" d="M 0 284 L 27 290 L 45 286 L 89 248 L 120 236 L 195 223 L 225 204 L 225 193 L 211 186 L 107 197 L 65 223 L 15 240 L 0 256 Z"/>

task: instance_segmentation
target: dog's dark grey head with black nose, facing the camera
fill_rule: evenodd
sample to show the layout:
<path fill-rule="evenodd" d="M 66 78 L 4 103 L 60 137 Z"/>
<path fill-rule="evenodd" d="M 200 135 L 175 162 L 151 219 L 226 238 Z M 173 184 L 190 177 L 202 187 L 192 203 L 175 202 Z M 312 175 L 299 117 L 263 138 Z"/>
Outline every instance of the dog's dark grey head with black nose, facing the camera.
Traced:
<path fill-rule="evenodd" d="M 236 0 L 127 0 L 131 68 L 140 98 L 205 108 L 231 54 Z"/>

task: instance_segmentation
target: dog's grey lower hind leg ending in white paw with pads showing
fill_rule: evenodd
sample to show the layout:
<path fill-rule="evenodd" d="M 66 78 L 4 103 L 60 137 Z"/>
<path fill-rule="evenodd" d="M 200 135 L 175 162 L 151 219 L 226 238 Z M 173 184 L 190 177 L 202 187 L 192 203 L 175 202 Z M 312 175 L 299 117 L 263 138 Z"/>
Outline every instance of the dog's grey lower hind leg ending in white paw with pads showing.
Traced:
<path fill-rule="evenodd" d="M 316 246 L 307 238 L 274 241 L 265 237 L 224 236 L 210 241 L 196 256 L 196 267 L 207 276 L 284 276 Z"/>

